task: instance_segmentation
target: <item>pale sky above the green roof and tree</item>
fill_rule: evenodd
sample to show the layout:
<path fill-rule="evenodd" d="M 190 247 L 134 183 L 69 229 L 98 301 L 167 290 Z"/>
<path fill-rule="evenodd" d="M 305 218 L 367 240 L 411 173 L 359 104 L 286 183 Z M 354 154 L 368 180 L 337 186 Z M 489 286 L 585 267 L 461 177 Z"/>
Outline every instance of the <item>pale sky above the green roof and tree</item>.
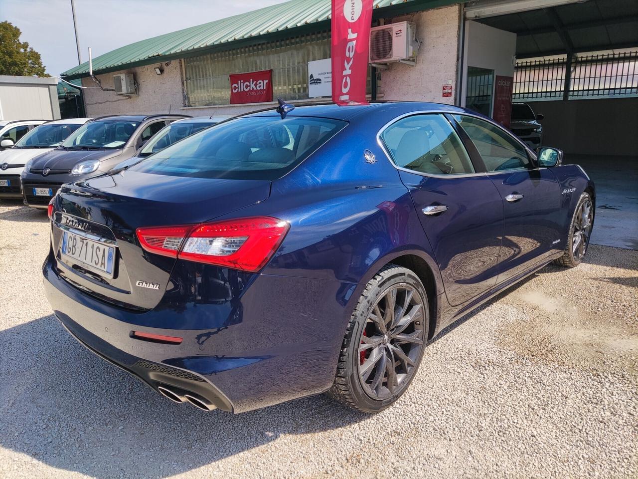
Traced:
<path fill-rule="evenodd" d="M 163 33 L 256 10 L 284 0 L 75 0 L 82 60 Z M 22 30 L 47 73 L 76 66 L 70 0 L 0 0 L 0 20 Z"/>

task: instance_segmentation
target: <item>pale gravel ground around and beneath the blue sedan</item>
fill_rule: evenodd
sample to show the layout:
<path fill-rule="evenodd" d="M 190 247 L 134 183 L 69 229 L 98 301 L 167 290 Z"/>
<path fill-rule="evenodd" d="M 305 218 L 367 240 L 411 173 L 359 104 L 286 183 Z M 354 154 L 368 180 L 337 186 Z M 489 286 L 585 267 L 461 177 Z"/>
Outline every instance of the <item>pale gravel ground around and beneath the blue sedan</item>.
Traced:
<path fill-rule="evenodd" d="M 41 289 L 45 213 L 0 203 L 2 478 L 636 478 L 638 252 L 547 266 L 426 349 L 396 406 L 169 402 L 80 346 Z M 469 319 L 469 321 L 468 321 Z"/>

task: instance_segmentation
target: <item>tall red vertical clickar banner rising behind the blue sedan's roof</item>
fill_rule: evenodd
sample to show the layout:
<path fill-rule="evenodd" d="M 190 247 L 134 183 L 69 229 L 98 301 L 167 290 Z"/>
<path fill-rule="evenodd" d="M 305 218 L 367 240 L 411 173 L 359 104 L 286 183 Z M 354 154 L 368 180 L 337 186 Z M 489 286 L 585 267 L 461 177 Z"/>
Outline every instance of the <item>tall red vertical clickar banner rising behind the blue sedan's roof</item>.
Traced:
<path fill-rule="evenodd" d="M 373 0 L 332 0 L 332 101 L 367 105 Z"/>

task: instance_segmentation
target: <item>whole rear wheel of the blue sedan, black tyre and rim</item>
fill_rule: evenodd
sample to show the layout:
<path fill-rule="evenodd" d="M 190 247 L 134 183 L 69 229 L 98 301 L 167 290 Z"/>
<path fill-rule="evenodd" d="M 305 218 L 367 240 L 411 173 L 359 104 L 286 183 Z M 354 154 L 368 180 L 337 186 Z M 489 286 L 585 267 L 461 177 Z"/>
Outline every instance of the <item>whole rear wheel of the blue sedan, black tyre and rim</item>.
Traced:
<path fill-rule="evenodd" d="M 384 306 L 392 301 L 393 308 Z M 382 323 L 394 327 L 382 328 Z M 429 305 L 419 277 L 401 266 L 385 266 L 366 285 L 352 313 L 330 395 L 364 413 L 390 406 L 419 369 L 428 333 Z"/>

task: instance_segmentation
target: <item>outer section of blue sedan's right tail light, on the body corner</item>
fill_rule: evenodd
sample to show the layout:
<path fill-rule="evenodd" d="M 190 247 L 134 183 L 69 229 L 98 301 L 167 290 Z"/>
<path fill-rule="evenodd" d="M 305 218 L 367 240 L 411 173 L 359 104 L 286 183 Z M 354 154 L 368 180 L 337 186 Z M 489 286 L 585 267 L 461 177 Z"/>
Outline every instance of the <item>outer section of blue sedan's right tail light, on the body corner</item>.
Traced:
<path fill-rule="evenodd" d="M 289 227 L 271 217 L 203 223 L 189 232 L 178 257 L 255 273 L 271 259 Z"/>

